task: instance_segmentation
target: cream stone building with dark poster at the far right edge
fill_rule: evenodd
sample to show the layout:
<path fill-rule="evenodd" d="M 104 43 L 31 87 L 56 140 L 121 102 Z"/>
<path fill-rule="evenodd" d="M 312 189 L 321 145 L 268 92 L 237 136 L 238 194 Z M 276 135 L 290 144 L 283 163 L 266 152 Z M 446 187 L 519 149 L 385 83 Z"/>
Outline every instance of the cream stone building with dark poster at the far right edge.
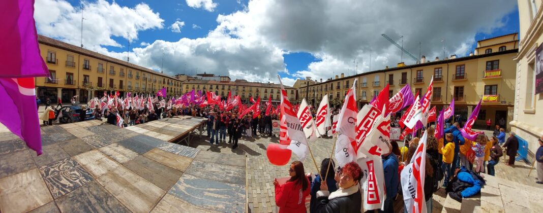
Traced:
<path fill-rule="evenodd" d="M 528 141 L 528 160 L 533 162 L 534 153 L 539 147 L 538 139 L 543 135 L 543 95 L 536 93 L 537 79 L 543 79 L 543 72 L 536 73 L 541 67 L 541 57 L 536 59 L 536 50 L 543 43 L 543 11 L 541 1 L 518 1 L 521 44 L 516 62 L 516 81 L 514 82 L 515 102 L 513 121 L 509 122 L 521 138 Z M 537 61 L 537 62 L 536 62 Z M 501 74 L 505 70 L 501 70 Z M 495 73 L 489 73 L 494 75 Z M 541 81 L 540 81 L 541 82 Z M 500 93 L 501 94 L 501 93 Z M 541 181 L 541 180 L 539 180 Z"/>

